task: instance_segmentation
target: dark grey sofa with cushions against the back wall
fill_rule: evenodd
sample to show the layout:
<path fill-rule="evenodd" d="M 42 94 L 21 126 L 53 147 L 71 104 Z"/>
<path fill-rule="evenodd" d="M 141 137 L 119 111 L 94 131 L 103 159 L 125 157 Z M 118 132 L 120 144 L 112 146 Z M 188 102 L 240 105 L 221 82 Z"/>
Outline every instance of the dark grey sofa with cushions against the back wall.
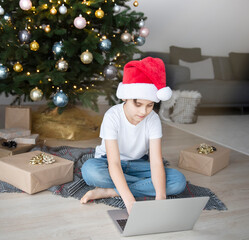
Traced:
<path fill-rule="evenodd" d="M 201 107 L 249 106 L 249 53 L 202 56 L 200 48 L 171 46 L 170 53 L 145 52 L 145 56 L 164 61 L 172 89 L 200 92 Z"/>

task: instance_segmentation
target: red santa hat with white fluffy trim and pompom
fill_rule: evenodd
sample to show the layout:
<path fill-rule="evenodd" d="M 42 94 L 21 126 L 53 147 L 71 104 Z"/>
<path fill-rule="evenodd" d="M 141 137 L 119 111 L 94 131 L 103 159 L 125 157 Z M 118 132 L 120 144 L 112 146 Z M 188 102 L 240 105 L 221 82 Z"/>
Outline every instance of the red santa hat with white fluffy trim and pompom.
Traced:
<path fill-rule="evenodd" d="M 123 82 L 119 83 L 119 99 L 146 99 L 153 102 L 166 101 L 172 91 L 166 87 L 166 73 L 160 58 L 147 57 L 131 61 L 124 66 Z"/>

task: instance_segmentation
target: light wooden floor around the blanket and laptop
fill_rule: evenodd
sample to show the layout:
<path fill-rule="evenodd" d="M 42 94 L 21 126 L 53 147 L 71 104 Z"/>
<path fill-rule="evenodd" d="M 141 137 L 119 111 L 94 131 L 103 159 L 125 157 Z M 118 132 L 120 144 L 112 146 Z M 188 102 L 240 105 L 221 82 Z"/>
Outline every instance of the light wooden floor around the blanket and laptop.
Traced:
<path fill-rule="evenodd" d="M 163 156 L 177 166 L 181 149 L 207 141 L 163 125 Z M 95 146 L 85 142 L 47 141 L 48 145 Z M 204 211 L 192 231 L 155 234 L 129 239 L 249 239 L 249 156 L 232 151 L 230 165 L 212 177 L 182 170 L 191 183 L 210 188 L 228 211 Z M 123 239 L 107 215 L 112 207 L 81 205 L 73 198 L 54 196 L 48 191 L 34 194 L 0 194 L 0 239 Z"/>

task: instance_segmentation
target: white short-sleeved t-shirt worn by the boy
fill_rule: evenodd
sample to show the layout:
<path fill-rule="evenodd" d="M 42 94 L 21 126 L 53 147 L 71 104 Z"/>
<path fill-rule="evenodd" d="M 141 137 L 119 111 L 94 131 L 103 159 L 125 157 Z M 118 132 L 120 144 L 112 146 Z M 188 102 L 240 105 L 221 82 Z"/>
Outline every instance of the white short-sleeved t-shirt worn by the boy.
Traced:
<path fill-rule="evenodd" d="M 102 142 L 96 147 L 95 158 L 106 154 L 105 139 L 117 139 L 121 160 L 140 159 L 148 154 L 149 140 L 162 137 L 159 116 L 152 111 L 137 125 L 131 124 L 124 113 L 124 103 L 111 107 L 100 127 Z"/>

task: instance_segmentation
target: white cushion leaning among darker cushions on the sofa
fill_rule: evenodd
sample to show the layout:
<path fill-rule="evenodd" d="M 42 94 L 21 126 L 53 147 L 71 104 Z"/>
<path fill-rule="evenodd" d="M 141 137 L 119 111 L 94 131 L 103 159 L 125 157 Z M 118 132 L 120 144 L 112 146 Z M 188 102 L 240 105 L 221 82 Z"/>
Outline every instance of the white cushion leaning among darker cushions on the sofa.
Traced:
<path fill-rule="evenodd" d="M 190 69 L 190 79 L 214 79 L 214 67 L 211 58 L 199 62 L 186 62 L 179 60 L 179 65 Z"/>

